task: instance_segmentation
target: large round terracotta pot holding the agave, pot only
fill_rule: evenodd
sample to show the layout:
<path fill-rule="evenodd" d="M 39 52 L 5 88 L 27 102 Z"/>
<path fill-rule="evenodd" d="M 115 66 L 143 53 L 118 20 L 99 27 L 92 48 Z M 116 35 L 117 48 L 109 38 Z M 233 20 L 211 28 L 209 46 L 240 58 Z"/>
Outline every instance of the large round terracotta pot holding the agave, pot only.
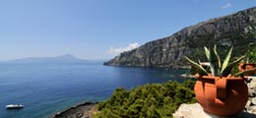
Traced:
<path fill-rule="evenodd" d="M 248 88 L 242 78 L 196 77 L 196 98 L 206 112 L 231 116 L 244 109 L 248 100 Z"/>

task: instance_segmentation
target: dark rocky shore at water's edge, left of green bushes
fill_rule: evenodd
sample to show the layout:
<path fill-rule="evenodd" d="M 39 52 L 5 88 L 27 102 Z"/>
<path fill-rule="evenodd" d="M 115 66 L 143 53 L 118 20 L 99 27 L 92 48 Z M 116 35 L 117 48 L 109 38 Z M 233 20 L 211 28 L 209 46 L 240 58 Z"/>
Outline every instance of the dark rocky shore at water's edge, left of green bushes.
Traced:
<path fill-rule="evenodd" d="M 98 102 L 84 102 L 66 110 L 57 112 L 51 118 L 92 118 Z"/>

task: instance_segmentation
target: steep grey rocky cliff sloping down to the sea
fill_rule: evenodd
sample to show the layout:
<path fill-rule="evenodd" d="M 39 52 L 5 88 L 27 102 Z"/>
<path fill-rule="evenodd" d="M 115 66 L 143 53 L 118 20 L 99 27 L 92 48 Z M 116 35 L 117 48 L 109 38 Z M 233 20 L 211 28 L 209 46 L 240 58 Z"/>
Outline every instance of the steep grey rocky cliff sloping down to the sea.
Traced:
<path fill-rule="evenodd" d="M 256 46 L 256 7 L 181 29 L 170 36 L 123 52 L 104 65 L 179 67 L 184 55 L 204 60 L 204 46 L 217 44 L 221 55 L 233 46 L 233 56 Z"/>

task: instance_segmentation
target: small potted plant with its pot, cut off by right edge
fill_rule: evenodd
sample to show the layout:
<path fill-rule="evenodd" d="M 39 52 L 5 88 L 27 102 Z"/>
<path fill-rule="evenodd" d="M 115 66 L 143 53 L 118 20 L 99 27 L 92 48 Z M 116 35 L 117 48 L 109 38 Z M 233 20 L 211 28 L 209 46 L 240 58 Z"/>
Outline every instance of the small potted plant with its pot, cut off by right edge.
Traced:
<path fill-rule="evenodd" d="M 239 71 L 253 70 L 256 67 L 256 48 L 252 51 L 247 51 L 244 56 L 243 63 L 240 63 L 238 66 Z M 255 76 L 255 71 L 249 73 L 244 73 L 245 76 Z"/>

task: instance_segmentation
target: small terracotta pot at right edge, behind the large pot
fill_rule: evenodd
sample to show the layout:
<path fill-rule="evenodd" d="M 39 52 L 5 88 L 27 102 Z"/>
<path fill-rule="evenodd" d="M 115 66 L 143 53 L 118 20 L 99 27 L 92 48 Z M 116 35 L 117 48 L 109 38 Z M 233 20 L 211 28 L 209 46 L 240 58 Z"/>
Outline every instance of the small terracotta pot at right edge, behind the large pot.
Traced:
<path fill-rule="evenodd" d="M 255 63 L 240 63 L 238 66 L 239 71 L 245 71 L 245 70 L 250 70 L 254 69 L 256 67 Z M 255 76 L 255 71 L 254 72 L 247 72 L 244 73 L 244 76 Z"/>

